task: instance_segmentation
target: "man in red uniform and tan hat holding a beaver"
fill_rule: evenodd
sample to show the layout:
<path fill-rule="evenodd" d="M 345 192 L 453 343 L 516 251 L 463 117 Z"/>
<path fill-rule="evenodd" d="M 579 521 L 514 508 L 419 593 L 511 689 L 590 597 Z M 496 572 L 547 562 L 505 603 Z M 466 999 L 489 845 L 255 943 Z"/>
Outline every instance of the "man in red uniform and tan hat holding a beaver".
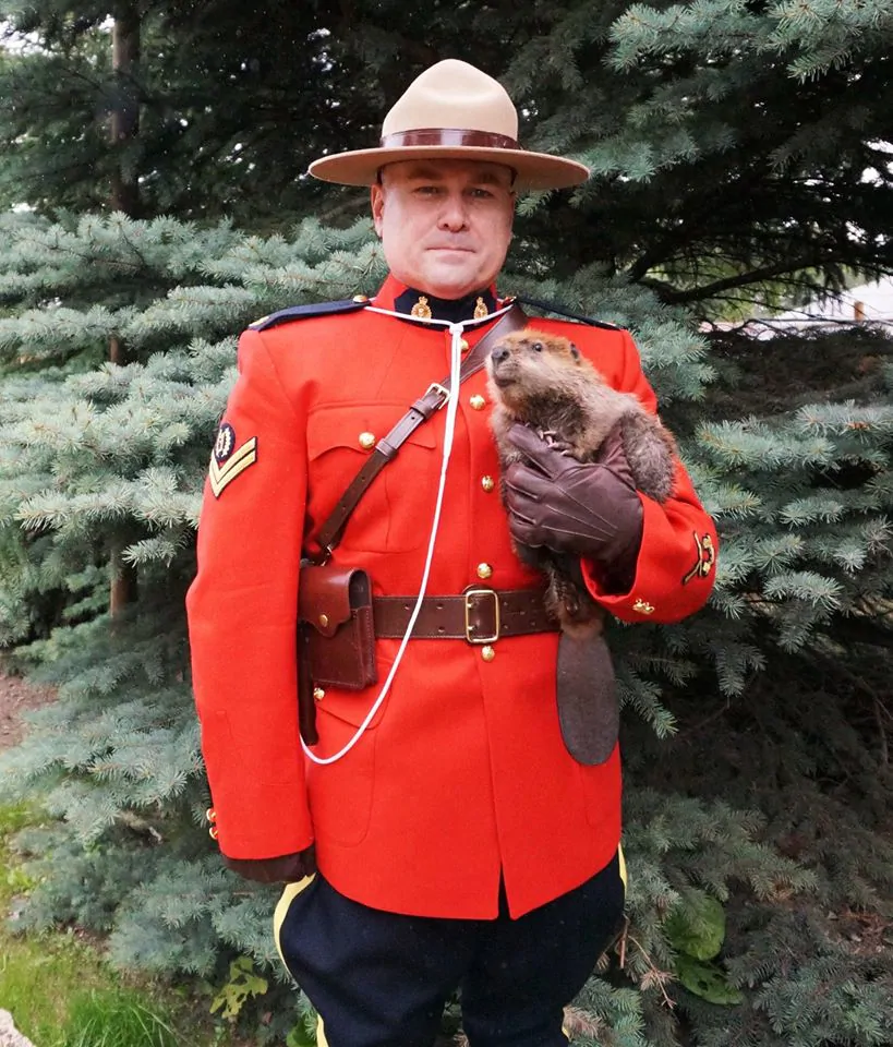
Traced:
<path fill-rule="evenodd" d="M 512 537 L 571 556 L 623 621 L 671 622 L 709 595 L 715 531 L 681 465 L 659 505 L 616 446 L 568 471 L 522 429 L 506 512 L 484 372 L 454 381 L 331 553 L 371 579 L 377 682 L 315 682 L 318 741 L 309 734 L 304 756 L 302 554 L 326 558 L 321 529 L 354 476 L 505 315 L 495 279 L 516 192 L 588 173 L 522 151 L 505 91 L 462 62 L 419 76 L 383 130 L 379 147 L 311 172 L 372 186 L 384 287 L 371 302 L 274 314 L 240 341 L 189 595 L 210 831 L 231 868 L 289 883 L 277 942 L 331 1047 L 431 1047 L 457 986 L 473 1047 L 557 1047 L 563 1007 L 622 915 L 619 755 L 582 763 L 564 744 L 558 635 Z M 655 408 L 626 332 L 535 326 L 571 334 L 612 385 Z M 462 610 L 458 634 L 436 624 Z M 475 633 L 479 612 L 490 618 Z M 310 612 L 323 646 L 330 615 Z"/>

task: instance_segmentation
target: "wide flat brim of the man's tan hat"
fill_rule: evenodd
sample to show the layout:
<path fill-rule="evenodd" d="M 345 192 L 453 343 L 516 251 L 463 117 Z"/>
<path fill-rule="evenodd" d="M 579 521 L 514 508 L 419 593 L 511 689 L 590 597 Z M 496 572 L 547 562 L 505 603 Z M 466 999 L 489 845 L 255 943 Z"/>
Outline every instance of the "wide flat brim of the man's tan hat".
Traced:
<path fill-rule="evenodd" d="M 340 185 L 372 185 L 386 164 L 403 160 L 483 160 L 502 164 L 515 171 L 515 189 L 521 192 L 568 189 L 589 178 L 589 168 L 548 153 L 475 146 L 408 145 L 400 148 L 354 149 L 314 160 L 309 172 L 324 182 Z"/>

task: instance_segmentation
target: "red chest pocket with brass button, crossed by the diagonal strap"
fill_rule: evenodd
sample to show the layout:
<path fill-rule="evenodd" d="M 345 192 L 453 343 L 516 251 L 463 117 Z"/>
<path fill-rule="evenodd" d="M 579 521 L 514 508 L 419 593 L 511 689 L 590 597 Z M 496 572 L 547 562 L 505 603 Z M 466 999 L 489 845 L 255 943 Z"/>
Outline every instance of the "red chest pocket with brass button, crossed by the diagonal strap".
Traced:
<path fill-rule="evenodd" d="M 307 418 L 311 515 L 322 524 L 408 404 L 333 405 Z M 429 419 L 402 444 L 351 514 L 341 544 L 359 552 L 408 552 L 427 541 L 439 479 Z M 371 446 L 364 446 L 371 444 Z"/>

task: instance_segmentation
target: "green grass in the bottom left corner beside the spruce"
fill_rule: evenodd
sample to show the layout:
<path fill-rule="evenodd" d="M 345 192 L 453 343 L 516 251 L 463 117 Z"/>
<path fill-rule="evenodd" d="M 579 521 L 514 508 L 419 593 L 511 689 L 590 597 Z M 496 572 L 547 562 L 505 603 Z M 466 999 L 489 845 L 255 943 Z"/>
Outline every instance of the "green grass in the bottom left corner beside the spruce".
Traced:
<path fill-rule="evenodd" d="M 227 1047 L 227 1031 L 194 1001 L 131 983 L 74 930 L 20 936 L 5 916 L 29 883 L 10 837 L 39 821 L 27 805 L 0 805 L 0 1008 L 37 1047 Z M 206 1009 L 207 1004 L 202 1008 Z"/>

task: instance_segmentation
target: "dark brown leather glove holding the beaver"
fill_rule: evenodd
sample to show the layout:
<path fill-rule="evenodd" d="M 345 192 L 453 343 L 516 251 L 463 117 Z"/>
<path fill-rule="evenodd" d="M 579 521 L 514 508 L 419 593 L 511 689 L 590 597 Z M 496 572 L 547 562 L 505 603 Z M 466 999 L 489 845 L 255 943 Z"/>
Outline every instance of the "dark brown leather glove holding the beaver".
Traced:
<path fill-rule="evenodd" d="M 613 585 L 620 586 L 618 591 L 628 589 L 642 541 L 643 512 L 619 430 L 607 436 L 599 460 L 586 464 L 526 425 L 512 425 L 508 437 L 528 459 L 510 465 L 505 476 L 515 541 L 594 559 Z"/>

